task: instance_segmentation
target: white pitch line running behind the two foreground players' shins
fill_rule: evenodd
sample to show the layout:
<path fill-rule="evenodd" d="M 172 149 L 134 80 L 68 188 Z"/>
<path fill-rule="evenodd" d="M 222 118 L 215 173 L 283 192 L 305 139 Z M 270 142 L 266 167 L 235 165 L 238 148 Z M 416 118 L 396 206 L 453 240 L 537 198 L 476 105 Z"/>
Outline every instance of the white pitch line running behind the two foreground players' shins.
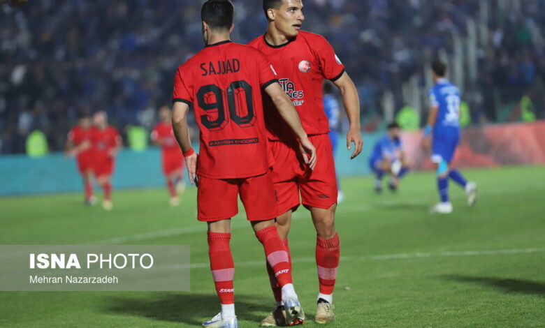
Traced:
<path fill-rule="evenodd" d="M 495 249 L 488 251 L 446 251 L 439 253 L 400 253 L 400 254 L 384 254 L 384 255 L 363 255 L 363 256 L 341 256 L 341 262 L 345 261 L 367 261 L 367 260 L 397 260 L 397 259 L 412 259 L 412 258 L 444 258 L 451 256 L 484 256 L 484 255 L 511 255 L 511 254 L 529 254 L 529 253 L 545 253 L 545 248 L 522 248 L 522 249 Z M 293 263 L 314 263 L 314 258 L 294 258 Z M 265 265 L 265 260 L 261 261 L 243 261 L 235 262 L 235 267 L 255 267 Z M 193 263 L 189 264 L 191 269 L 210 268 L 209 263 Z"/>

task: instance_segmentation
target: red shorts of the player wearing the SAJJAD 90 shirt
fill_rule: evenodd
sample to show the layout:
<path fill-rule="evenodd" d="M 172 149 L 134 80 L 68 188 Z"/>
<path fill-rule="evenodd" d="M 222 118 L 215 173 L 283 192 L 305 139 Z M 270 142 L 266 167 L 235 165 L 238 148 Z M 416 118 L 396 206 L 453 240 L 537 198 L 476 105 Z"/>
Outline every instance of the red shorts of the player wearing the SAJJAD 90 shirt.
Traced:
<path fill-rule="evenodd" d="M 270 172 L 242 179 L 210 179 L 198 176 L 199 221 L 220 221 L 238 214 L 238 195 L 249 221 L 276 218 L 277 197 Z"/>

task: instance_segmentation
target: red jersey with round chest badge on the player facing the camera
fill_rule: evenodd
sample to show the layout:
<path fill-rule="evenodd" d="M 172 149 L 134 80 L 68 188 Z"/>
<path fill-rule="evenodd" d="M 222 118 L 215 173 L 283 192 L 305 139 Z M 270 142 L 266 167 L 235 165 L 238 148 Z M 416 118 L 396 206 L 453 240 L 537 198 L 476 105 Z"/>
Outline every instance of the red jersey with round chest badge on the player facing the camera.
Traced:
<path fill-rule="evenodd" d="M 278 80 L 293 101 L 307 134 L 328 133 L 329 121 L 322 101 L 324 78 L 332 81 L 339 79 L 344 73 L 344 65 L 326 38 L 300 31 L 295 39 L 284 45 L 270 45 L 265 36 L 259 36 L 248 45 L 261 50 L 273 64 Z M 268 96 L 265 98 L 270 140 L 290 140 L 295 137 L 272 101 Z"/>

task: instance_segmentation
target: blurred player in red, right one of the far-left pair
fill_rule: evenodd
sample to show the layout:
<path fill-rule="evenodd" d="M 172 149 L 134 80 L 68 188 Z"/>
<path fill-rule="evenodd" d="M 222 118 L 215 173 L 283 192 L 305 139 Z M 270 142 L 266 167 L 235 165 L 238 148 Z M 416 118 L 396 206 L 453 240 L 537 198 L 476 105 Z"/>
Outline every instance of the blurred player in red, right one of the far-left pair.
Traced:
<path fill-rule="evenodd" d="M 112 204 L 112 173 L 115 165 L 115 155 L 122 147 L 121 135 L 117 129 L 108 125 L 106 112 L 96 112 L 93 115 L 91 144 L 94 156 L 93 171 L 96 181 L 102 187 L 104 199 L 102 207 L 106 211 L 113 208 Z"/>

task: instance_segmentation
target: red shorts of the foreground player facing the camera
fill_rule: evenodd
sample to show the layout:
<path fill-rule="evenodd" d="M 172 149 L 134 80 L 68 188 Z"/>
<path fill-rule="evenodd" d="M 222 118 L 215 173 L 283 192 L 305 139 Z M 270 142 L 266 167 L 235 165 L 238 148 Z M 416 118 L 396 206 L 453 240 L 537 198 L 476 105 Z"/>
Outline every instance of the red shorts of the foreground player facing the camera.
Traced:
<path fill-rule="evenodd" d="M 279 214 L 297 209 L 300 203 L 306 207 L 328 209 L 337 202 L 335 161 L 329 137 L 327 134 L 310 135 L 309 140 L 316 147 L 317 163 L 314 170 L 310 170 L 303 162 L 295 141 L 291 144 L 270 142 Z"/>

